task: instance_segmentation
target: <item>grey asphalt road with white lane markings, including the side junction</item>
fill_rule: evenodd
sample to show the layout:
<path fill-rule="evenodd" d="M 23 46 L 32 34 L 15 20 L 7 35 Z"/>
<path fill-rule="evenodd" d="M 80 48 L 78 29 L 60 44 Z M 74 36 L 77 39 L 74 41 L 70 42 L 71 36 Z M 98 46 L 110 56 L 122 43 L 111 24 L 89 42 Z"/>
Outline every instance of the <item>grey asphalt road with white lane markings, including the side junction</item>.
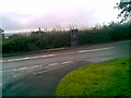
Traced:
<path fill-rule="evenodd" d="M 128 41 L 3 58 L 3 96 L 52 96 L 59 81 L 80 66 L 129 56 Z"/>

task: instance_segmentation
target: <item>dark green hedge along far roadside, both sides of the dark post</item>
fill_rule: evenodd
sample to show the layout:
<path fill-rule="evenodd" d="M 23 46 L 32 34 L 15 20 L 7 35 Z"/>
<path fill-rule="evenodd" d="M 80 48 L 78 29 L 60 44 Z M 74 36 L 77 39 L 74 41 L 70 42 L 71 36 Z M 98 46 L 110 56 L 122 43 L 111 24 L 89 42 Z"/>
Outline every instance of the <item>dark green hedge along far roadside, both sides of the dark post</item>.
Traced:
<path fill-rule="evenodd" d="M 110 23 L 108 26 L 96 26 L 79 29 L 79 45 L 102 44 L 131 38 L 131 23 Z M 0 45 L 1 46 L 1 45 Z M 70 47 L 71 32 L 33 32 L 31 35 L 13 35 L 2 39 L 2 53 L 38 51 L 52 48 Z"/>

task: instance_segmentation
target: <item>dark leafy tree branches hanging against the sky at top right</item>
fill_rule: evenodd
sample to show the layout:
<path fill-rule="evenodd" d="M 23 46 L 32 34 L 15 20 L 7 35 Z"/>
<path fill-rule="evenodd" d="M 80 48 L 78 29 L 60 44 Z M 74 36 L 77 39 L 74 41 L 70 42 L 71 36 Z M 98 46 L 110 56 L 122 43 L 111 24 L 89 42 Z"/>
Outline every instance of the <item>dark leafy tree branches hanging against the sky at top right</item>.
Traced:
<path fill-rule="evenodd" d="M 131 21 L 131 0 L 121 0 L 115 8 L 121 10 L 120 14 L 118 14 L 118 19 L 121 17 L 120 23 Z"/>

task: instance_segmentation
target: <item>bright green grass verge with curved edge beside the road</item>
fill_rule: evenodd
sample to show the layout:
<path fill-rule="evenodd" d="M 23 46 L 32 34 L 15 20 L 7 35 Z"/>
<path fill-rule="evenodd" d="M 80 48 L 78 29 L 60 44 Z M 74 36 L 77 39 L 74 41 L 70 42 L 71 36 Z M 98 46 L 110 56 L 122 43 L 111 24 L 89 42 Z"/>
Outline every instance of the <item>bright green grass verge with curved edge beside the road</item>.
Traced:
<path fill-rule="evenodd" d="M 129 58 L 90 64 L 70 72 L 56 88 L 56 96 L 131 96 Z"/>

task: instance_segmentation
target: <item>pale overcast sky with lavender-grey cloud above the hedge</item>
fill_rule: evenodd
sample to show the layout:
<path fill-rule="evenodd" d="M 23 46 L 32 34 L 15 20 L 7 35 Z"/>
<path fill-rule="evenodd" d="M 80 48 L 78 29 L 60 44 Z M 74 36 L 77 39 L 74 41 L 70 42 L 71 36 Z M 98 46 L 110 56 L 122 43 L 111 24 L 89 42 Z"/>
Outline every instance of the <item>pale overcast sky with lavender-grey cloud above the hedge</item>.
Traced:
<path fill-rule="evenodd" d="M 94 26 L 117 21 L 120 0 L 0 0 L 0 27 L 5 32 L 53 26 Z"/>

